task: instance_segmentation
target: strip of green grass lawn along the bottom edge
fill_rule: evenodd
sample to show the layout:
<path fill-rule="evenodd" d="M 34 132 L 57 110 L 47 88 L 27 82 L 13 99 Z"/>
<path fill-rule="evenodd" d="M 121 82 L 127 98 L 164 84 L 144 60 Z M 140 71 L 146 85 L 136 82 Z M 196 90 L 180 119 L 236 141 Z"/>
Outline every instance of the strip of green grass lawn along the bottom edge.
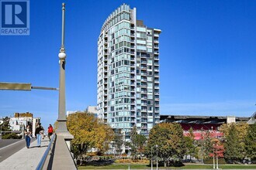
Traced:
<path fill-rule="evenodd" d="M 78 169 L 128 169 L 129 165 L 126 164 L 112 164 L 106 166 L 79 166 Z M 130 165 L 130 169 L 150 169 L 150 165 Z M 188 164 L 182 167 L 158 167 L 159 169 L 183 169 L 183 168 L 193 168 L 193 169 L 213 169 L 213 165 L 197 165 L 197 164 Z M 219 165 L 219 168 L 228 169 L 228 168 L 251 168 L 256 169 L 256 165 Z M 154 169 L 156 167 L 154 166 Z"/>

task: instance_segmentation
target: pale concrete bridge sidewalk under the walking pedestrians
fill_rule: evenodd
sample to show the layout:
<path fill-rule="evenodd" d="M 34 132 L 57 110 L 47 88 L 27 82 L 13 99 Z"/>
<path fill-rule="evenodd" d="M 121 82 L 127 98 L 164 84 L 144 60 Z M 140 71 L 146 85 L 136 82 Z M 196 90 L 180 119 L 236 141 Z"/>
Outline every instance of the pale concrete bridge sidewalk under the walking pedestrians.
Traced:
<path fill-rule="evenodd" d="M 15 154 L 0 162 L 0 170 L 4 169 L 19 169 L 29 170 L 36 169 L 44 152 L 47 150 L 50 141 L 49 138 L 42 139 L 41 147 L 38 148 L 36 141 L 30 144 L 30 148 L 26 148 L 26 141 L 24 141 L 24 148 L 17 151 Z"/>

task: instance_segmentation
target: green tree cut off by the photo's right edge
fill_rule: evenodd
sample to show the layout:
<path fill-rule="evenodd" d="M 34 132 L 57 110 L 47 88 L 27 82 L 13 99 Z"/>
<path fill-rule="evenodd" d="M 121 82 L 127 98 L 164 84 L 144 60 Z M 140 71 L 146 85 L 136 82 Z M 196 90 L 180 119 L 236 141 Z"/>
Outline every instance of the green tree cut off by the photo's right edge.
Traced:
<path fill-rule="evenodd" d="M 251 124 L 245 137 L 245 151 L 248 158 L 256 158 L 256 124 Z"/>

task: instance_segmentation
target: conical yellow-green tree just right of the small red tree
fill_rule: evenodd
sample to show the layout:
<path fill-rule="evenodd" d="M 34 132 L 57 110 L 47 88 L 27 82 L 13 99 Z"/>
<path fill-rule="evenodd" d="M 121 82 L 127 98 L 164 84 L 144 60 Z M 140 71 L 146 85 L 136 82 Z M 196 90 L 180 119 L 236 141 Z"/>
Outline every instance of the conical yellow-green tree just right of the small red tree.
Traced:
<path fill-rule="evenodd" d="M 243 158 L 243 148 L 240 145 L 236 124 L 230 124 L 224 144 L 224 157 L 229 162 L 237 162 Z"/>

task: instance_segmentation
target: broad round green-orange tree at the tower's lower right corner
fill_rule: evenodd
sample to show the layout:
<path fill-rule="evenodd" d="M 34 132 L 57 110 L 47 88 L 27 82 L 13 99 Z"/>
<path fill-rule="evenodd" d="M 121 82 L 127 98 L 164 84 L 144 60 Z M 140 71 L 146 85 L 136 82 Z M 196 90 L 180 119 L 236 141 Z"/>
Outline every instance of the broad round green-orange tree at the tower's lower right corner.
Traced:
<path fill-rule="evenodd" d="M 166 167 L 170 158 L 182 159 L 185 154 L 184 145 L 183 130 L 180 124 L 161 123 L 150 130 L 145 154 L 148 158 L 151 158 L 151 151 L 152 155 L 157 154 L 164 159 L 164 167 Z"/>

